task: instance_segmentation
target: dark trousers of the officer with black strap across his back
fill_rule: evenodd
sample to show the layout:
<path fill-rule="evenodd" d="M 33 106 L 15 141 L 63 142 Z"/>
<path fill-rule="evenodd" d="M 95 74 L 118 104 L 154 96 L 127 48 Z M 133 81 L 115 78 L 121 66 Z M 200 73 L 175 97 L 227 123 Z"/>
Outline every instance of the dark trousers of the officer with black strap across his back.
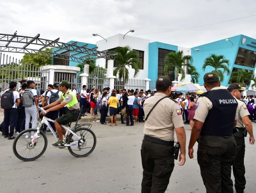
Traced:
<path fill-rule="evenodd" d="M 165 192 L 174 169 L 173 151 L 173 146 L 160 145 L 143 139 L 141 193 Z"/>

